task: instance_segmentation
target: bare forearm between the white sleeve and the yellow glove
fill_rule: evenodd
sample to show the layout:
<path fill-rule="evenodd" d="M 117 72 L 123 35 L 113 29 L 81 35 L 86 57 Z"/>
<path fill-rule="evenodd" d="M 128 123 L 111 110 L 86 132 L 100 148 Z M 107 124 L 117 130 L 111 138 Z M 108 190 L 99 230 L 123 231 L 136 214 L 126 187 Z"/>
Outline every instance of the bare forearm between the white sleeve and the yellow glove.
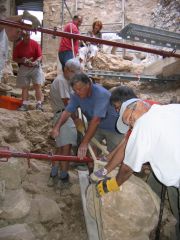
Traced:
<path fill-rule="evenodd" d="M 116 176 L 117 184 L 122 185 L 128 178 L 132 175 L 133 170 L 128 167 L 126 164 L 122 163 L 119 172 Z"/>

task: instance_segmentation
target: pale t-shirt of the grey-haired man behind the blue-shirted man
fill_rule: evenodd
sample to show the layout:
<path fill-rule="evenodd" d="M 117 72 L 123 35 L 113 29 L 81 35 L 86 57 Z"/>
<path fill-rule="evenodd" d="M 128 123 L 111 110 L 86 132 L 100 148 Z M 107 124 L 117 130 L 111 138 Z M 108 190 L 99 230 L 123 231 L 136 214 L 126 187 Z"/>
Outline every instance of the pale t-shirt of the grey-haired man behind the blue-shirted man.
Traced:
<path fill-rule="evenodd" d="M 72 91 L 63 75 L 59 75 L 54 79 L 50 90 L 51 106 L 54 113 L 65 108 L 62 98 L 70 98 Z"/>

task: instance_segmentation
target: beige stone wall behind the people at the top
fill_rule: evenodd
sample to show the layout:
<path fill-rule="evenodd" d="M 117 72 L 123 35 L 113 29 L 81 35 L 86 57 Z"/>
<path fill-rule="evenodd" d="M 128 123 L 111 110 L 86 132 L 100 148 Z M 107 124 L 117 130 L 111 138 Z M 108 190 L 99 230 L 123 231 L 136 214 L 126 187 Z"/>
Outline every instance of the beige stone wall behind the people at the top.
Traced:
<path fill-rule="evenodd" d="M 125 24 L 130 22 L 149 26 L 153 9 L 158 0 L 126 0 Z M 104 23 L 103 31 L 120 31 L 122 28 L 122 1 L 120 0 L 67 0 L 67 6 L 72 15 L 76 13 L 83 16 L 81 32 L 91 29 L 95 18 Z M 64 24 L 70 20 L 67 8 L 64 7 Z M 108 23 L 108 25 L 106 25 Z M 109 24 L 118 23 L 118 24 Z M 89 26 L 87 26 L 89 25 Z M 59 0 L 44 0 L 44 27 L 62 29 L 62 2 Z M 43 36 L 44 63 L 54 63 L 57 60 L 59 38 Z"/>

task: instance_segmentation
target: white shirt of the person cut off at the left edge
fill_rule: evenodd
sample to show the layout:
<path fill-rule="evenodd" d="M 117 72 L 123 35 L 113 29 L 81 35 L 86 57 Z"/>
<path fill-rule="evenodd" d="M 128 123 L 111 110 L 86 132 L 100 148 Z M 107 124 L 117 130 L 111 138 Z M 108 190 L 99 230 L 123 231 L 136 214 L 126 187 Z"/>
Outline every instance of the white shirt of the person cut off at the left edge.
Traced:
<path fill-rule="evenodd" d="M 0 31 L 0 82 L 3 75 L 3 68 L 8 58 L 8 37 L 5 29 Z"/>

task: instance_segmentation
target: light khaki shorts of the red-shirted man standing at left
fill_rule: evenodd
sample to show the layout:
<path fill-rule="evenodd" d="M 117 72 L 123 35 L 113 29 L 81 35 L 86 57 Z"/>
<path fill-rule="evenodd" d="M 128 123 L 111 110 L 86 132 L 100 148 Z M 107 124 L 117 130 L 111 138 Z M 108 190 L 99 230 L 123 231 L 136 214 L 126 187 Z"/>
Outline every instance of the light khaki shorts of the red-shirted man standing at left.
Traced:
<path fill-rule="evenodd" d="M 44 80 L 44 73 L 41 66 L 26 67 L 21 65 L 18 71 L 16 85 L 19 88 L 29 87 L 31 81 L 33 84 L 42 85 L 44 83 Z"/>

